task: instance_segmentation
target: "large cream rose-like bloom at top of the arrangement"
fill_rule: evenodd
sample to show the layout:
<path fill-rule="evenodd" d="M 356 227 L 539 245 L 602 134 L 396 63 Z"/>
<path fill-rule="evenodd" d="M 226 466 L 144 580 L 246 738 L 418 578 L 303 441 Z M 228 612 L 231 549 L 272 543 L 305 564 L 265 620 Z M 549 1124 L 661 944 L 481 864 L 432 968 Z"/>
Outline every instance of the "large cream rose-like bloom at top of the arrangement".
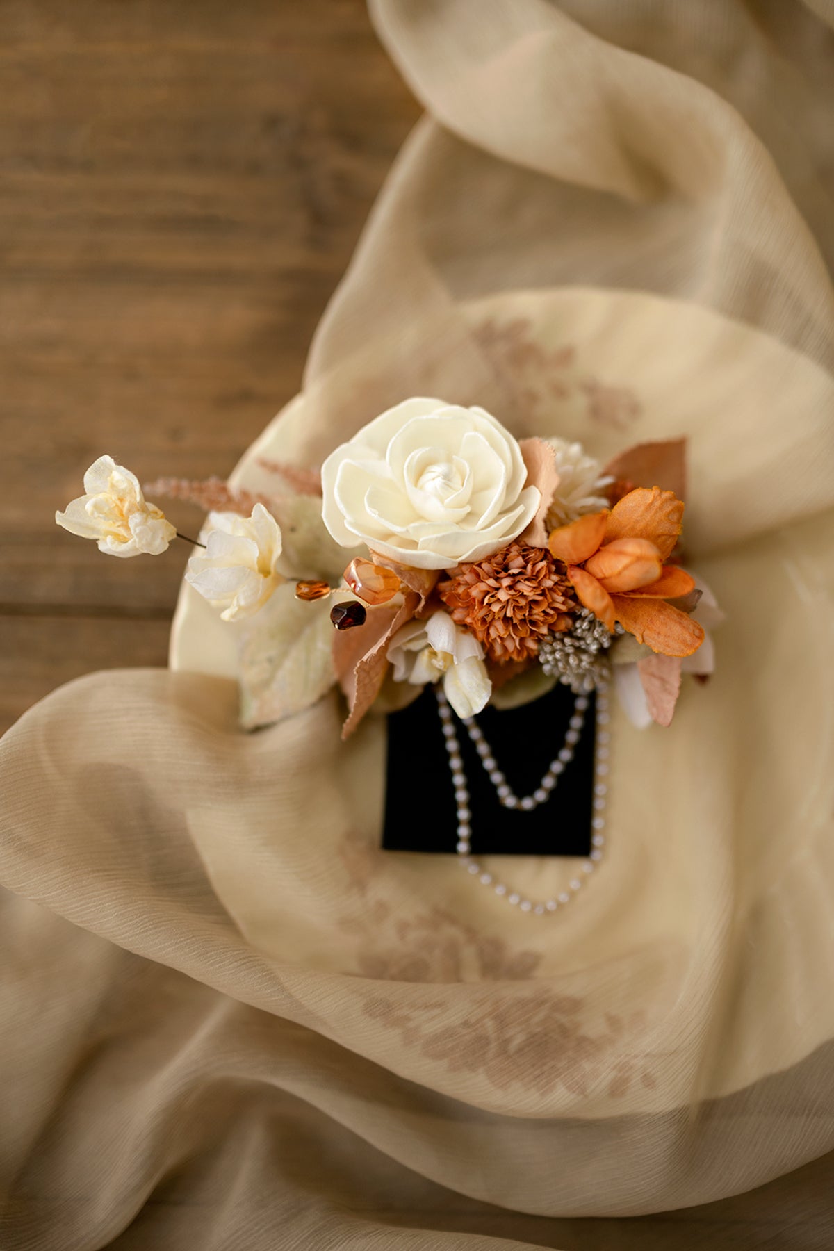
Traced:
<path fill-rule="evenodd" d="M 406 399 L 321 467 L 324 524 L 418 569 L 480 560 L 518 538 L 539 505 L 518 442 L 483 408 Z"/>

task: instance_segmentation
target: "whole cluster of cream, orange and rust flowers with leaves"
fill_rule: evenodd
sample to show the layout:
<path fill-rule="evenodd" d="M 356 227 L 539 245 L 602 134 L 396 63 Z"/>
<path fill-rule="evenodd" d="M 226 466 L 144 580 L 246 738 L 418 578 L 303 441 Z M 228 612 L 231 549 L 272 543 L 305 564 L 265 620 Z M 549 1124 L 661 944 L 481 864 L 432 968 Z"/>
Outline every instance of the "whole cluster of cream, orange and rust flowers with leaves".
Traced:
<path fill-rule="evenodd" d="M 243 623 L 248 727 L 336 682 L 346 736 L 426 683 L 469 718 L 611 676 L 636 724 L 668 726 L 681 676 L 711 671 L 705 628 L 720 619 L 681 564 L 684 458 L 683 442 L 648 443 L 603 468 L 579 443 L 519 442 L 481 408 L 415 398 L 320 472 L 265 464 L 271 493 L 216 479 L 146 489 L 209 509 L 185 578 Z M 111 457 L 84 489 L 56 520 L 110 555 L 185 538 Z"/>

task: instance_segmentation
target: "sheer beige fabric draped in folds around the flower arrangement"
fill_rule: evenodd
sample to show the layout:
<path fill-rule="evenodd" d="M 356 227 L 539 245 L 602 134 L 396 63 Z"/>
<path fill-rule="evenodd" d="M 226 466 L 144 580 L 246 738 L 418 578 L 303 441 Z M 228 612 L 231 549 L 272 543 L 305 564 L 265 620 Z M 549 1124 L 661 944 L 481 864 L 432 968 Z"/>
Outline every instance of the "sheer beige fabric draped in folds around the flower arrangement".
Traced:
<path fill-rule="evenodd" d="M 0 752 L 0 1242 L 826 1246 L 834 14 L 373 14 L 428 115 L 258 452 L 318 463 L 415 393 L 603 459 L 686 435 L 718 673 L 669 731 L 616 716 L 610 853 L 546 919 L 378 851 L 379 721 L 241 734 L 190 599 L 176 672 L 33 709 Z"/>

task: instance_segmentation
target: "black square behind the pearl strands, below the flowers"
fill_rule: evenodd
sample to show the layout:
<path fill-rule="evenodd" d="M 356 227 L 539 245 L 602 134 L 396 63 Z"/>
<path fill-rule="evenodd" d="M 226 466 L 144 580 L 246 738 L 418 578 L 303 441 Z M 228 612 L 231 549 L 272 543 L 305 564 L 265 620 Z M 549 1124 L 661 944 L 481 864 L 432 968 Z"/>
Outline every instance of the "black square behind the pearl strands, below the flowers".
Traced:
<path fill-rule="evenodd" d="M 564 746 L 575 696 L 554 687 L 523 708 L 485 708 L 476 722 L 498 767 L 519 798 L 539 787 L 550 761 Z M 546 803 L 530 812 L 504 808 L 495 787 L 455 718 L 470 793 L 473 856 L 588 856 L 594 789 L 594 696 L 574 758 L 559 776 Z M 438 714 L 426 687 L 401 712 L 388 718 L 388 763 L 383 848 L 455 852 L 455 788 Z"/>

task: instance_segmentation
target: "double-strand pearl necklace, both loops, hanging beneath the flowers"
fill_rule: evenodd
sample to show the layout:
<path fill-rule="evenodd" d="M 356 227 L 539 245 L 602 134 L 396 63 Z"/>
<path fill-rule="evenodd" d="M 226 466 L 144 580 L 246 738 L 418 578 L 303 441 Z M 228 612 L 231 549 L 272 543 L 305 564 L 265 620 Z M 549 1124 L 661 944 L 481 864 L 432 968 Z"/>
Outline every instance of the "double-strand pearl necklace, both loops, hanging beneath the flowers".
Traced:
<path fill-rule="evenodd" d="M 458 841 L 455 844 L 455 851 L 458 853 L 458 859 L 460 864 L 466 869 L 471 877 L 476 877 L 481 886 L 490 887 L 494 893 L 505 899 L 514 907 L 519 907 L 521 912 L 531 912 L 535 916 L 544 916 L 548 912 L 556 912 L 558 908 L 564 907 L 566 903 L 575 897 L 576 892 L 581 889 L 583 877 L 574 877 L 568 883 L 568 888 L 561 891 L 555 898 L 549 899 L 528 899 L 518 891 L 511 889 L 505 882 L 496 881 L 495 877 L 484 869 L 483 864 L 476 861 L 470 854 L 471 847 L 471 812 L 469 808 L 469 786 L 466 782 L 466 774 L 464 773 L 464 762 L 460 754 L 460 742 L 458 739 L 458 731 L 455 729 L 454 717 L 451 708 L 449 707 L 449 701 L 446 699 L 443 688 L 440 686 L 435 687 L 435 696 L 438 699 L 438 712 L 440 714 L 440 724 L 443 728 L 443 734 L 446 741 L 446 754 L 449 757 L 449 768 L 451 771 L 451 781 L 455 787 L 455 802 L 458 806 Z M 551 761 L 548 772 L 541 778 L 540 786 L 533 792 L 531 796 L 525 796 L 519 799 L 509 787 L 506 778 L 499 769 L 495 758 L 491 753 L 489 743 L 484 738 L 483 731 L 476 724 L 474 717 L 463 718 L 463 724 L 473 742 L 475 751 L 478 752 L 481 764 L 484 766 L 490 781 L 495 786 L 499 802 L 505 808 L 520 808 L 524 812 L 529 812 L 538 807 L 540 803 L 545 803 L 553 791 L 555 789 L 559 776 L 564 772 L 565 766 L 573 758 L 574 747 L 579 742 L 579 736 L 584 724 L 584 714 L 588 708 L 588 698 L 585 696 L 578 696 L 574 704 L 574 716 L 570 718 L 569 729 L 565 734 L 565 746 L 560 749 L 559 754 L 554 761 Z M 583 861 L 580 871 L 583 874 L 588 876 L 593 873 L 599 862 L 603 858 L 603 849 L 605 847 L 605 804 L 608 799 L 608 757 L 609 757 L 609 742 L 610 733 L 608 731 L 609 723 L 609 711 L 608 711 L 608 683 L 599 683 L 596 687 L 596 744 L 594 756 L 594 801 L 593 809 L 594 816 L 591 817 L 591 852 L 590 857 Z"/>

